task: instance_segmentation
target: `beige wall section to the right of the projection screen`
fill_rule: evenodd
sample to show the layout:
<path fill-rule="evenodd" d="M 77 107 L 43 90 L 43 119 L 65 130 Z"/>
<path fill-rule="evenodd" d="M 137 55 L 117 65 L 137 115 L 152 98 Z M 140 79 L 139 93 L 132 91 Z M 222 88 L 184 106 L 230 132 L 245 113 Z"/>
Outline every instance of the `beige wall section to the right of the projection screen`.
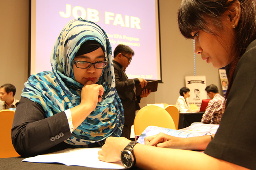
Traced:
<path fill-rule="evenodd" d="M 177 10 L 181 0 L 159 0 L 162 81 L 158 91 L 141 100 L 147 103 L 175 104 L 181 87 L 185 87 L 185 76 L 194 75 L 193 40 L 185 39 L 177 24 Z M 215 84 L 221 89 L 218 69 L 207 64 L 196 55 L 196 75 L 206 76 L 206 85 Z M 223 93 L 220 90 L 220 94 Z"/>

